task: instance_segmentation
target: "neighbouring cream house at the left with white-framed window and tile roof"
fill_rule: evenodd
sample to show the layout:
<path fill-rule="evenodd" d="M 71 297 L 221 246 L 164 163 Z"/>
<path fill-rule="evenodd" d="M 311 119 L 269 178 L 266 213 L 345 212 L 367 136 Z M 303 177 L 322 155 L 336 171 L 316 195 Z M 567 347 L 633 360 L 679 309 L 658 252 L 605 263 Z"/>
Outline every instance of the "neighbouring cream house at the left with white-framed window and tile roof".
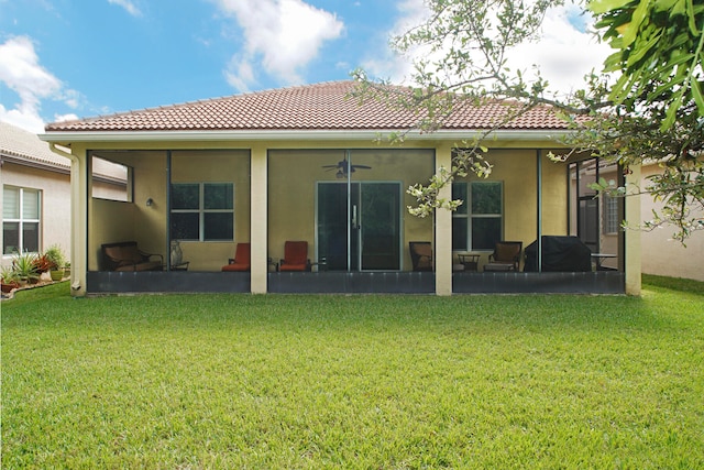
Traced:
<path fill-rule="evenodd" d="M 15 253 L 37 253 L 56 244 L 72 249 L 70 160 L 52 152 L 36 134 L 0 122 L 2 265 Z M 97 170 L 96 190 L 125 194 L 125 175 L 113 165 Z"/>

